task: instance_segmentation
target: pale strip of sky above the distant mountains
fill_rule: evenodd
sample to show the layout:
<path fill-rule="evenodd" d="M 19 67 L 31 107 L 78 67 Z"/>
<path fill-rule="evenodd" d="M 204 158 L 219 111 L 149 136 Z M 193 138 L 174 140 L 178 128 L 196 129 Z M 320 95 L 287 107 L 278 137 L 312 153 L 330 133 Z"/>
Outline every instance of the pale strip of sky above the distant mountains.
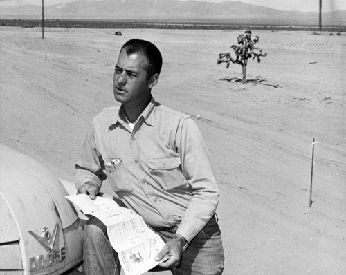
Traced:
<path fill-rule="evenodd" d="M 49 6 L 55 3 L 68 3 L 74 0 L 44 0 L 44 5 Z M 87 1 L 87 0 L 84 0 Z M 109 0 L 111 1 L 111 0 Z M 145 1 L 145 0 L 143 0 Z M 181 0 L 188 1 L 188 0 Z M 222 1 L 230 0 L 197 0 L 220 3 Z M 275 8 L 277 10 L 295 10 L 300 12 L 318 12 L 319 0 L 239 0 L 244 3 L 253 5 L 265 6 L 268 8 Z M 24 4 L 42 5 L 42 0 L 0 0 L 0 6 L 5 5 L 24 5 Z M 346 10 L 346 0 L 322 0 L 322 12 L 329 12 L 331 10 Z"/>

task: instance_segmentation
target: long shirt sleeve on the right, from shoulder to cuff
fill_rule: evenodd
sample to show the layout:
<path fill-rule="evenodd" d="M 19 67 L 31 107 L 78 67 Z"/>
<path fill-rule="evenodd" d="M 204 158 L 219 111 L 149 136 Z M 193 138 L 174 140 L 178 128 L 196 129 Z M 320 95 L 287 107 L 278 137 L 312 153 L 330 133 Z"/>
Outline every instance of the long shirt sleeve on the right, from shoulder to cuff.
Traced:
<path fill-rule="evenodd" d="M 176 146 L 181 155 L 182 172 L 192 187 L 192 199 L 177 233 L 190 242 L 215 214 L 219 203 L 219 188 L 197 124 L 187 118 L 179 128 Z"/>

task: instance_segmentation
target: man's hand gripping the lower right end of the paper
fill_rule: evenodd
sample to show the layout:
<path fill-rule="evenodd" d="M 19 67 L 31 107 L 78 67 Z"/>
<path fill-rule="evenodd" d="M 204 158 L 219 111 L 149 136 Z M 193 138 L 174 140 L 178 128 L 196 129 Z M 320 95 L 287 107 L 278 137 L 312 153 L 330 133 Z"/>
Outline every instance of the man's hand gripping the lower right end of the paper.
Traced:
<path fill-rule="evenodd" d="M 167 241 L 161 252 L 156 256 L 155 260 L 158 262 L 168 256 L 170 258 L 159 263 L 158 266 L 164 268 L 176 267 L 180 263 L 182 253 L 183 244 L 179 240 L 173 238 L 172 240 Z"/>

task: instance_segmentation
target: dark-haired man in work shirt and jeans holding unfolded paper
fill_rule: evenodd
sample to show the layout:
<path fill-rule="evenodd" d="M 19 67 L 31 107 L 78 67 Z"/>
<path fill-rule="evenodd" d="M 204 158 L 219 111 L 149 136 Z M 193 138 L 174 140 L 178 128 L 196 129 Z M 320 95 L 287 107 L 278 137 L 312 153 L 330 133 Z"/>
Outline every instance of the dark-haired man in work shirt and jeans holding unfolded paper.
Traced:
<path fill-rule="evenodd" d="M 149 41 L 131 39 L 122 46 L 113 77 L 121 106 L 94 118 L 76 162 L 76 187 L 95 199 L 107 177 L 123 204 L 165 240 L 156 260 L 168 258 L 160 267 L 173 274 L 221 274 L 219 190 L 210 157 L 191 117 L 152 97 L 161 66 L 161 53 Z M 96 218 L 84 228 L 84 265 L 86 274 L 120 273 Z"/>

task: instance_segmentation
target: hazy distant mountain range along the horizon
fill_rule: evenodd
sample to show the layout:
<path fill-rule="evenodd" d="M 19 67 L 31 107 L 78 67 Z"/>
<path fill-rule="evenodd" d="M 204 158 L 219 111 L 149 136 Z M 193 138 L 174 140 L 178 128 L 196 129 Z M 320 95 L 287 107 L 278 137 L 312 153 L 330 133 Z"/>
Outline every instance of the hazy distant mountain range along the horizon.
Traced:
<path fill-rule="evenodd" d="M 42 6 L 2 6 L 1 19 L 40 19 Z M 73 1 L 45 6 L 46 19 L 181 20 L 239 24 L 318 25 L 318 12 L 288 12 L 240 1 L 179 0 Z M 324 12 L 323 25 L 346 26 L 346 10 Z"/>

